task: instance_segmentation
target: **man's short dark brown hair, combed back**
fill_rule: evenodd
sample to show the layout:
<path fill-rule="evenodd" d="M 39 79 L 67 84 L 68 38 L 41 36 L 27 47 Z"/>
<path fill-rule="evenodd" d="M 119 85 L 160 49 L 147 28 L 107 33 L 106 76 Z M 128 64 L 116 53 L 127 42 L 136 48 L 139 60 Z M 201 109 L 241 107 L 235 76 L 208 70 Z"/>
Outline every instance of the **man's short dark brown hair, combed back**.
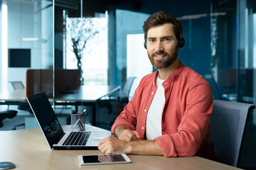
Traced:
<path fill-rule="evenodd" d="M 174 33 L 176 35 L 178 42 L 179 40 L 181 40 L 181 38 L 183 38 L 183 30 L 181 23 L 175 18 L 175 16 L 166 12 L 159 11 L 152 14 L 151 16 L 149 16 L 149 18 L 146 19 L 146 21 L 144 21 L 143 30 L 145 40 L 147 38 L 147 33 L 150 28 L 154 26 L 161 26 L 164 23 L 172 23 L 174 25 Z"/>

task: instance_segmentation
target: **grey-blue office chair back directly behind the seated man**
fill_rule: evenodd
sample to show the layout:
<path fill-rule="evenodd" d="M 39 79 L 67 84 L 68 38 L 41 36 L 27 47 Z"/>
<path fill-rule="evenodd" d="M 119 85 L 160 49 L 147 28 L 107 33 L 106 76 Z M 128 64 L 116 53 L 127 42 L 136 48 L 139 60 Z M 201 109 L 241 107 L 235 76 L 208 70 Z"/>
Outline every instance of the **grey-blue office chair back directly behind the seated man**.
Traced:
<path fill-rule="evenodd" d="M 238 166 L 247 115 L 253 104 L 213 100 L 210 140 L 219 161 Z"/>

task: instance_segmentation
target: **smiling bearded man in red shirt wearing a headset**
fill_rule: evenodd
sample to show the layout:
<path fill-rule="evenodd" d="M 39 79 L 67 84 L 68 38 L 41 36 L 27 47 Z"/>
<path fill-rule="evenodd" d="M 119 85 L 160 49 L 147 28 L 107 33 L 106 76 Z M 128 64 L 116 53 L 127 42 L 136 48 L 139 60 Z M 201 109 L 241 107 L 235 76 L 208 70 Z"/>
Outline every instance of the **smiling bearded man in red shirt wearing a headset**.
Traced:
<path fill-rule="evenodd" d="M 210 84 L 178 60 L 185 43 L 181 23 L 169 13 L 157 12 L 143 28 L 144 46 L 157 72 L 142 79 L 112 126 L 116 137 L 101 140 L 100 151 L 213 159 L 213 96 Z"/>

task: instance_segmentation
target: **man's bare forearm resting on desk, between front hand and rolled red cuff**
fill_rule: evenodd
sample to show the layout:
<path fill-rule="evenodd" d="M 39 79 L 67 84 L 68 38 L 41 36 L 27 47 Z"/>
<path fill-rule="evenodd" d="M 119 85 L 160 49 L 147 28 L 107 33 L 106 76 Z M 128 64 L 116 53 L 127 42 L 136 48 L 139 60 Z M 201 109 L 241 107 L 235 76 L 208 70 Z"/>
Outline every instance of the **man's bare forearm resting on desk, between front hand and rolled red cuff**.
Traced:
<path fill-rule="evenodd" d="M 156 140 L 139 140 L 128 142 L 127 154 L 163 155 L 163 152 Z"/>

